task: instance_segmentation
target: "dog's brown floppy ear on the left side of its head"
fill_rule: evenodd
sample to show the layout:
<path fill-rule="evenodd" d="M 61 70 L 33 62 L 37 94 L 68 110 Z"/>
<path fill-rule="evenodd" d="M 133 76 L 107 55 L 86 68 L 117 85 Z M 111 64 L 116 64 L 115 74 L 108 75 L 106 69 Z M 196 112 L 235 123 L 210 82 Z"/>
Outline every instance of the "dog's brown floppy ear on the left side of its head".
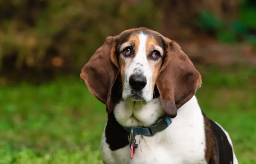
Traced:
<path fill-rule="evenodd" d="M 118 36 L 108 36 L 80 73 L 80 78 L 84 80 L 90 93 L 106 104 L 108 113 L 111 112 L 112 108 L 109 107 L 112 104 L 111 89 L 119 74 L 119 66 L 115 56 L 117 40 Z"/>

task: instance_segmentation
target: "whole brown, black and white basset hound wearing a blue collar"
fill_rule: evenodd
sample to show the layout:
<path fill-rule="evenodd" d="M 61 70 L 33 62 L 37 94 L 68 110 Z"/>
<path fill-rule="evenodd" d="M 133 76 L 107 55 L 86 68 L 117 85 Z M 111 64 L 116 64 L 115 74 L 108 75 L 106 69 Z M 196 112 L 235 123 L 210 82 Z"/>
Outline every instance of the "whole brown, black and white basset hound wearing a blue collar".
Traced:
<path fill-rule="evenodd" d="M 238 164 L 232 141 L 201 110 L 201 75 L 178 43 L 146 27 L 106 38 L 80 78 L 106 104 L 104 164 Z"/>

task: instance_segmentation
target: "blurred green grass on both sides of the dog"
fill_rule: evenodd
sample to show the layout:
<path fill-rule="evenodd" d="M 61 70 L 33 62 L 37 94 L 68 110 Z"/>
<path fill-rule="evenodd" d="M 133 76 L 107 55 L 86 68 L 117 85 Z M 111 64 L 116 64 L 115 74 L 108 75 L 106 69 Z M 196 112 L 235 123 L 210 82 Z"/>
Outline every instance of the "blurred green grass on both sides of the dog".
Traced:
<path fill-rule="evenodd" d="M 256 163 L 256 70 L 205 71 L 196 93 L 230 134 L 241 164 Z M 0 87 L 0 164 L 102 164 L 105 107 L 79 77 Z"/>

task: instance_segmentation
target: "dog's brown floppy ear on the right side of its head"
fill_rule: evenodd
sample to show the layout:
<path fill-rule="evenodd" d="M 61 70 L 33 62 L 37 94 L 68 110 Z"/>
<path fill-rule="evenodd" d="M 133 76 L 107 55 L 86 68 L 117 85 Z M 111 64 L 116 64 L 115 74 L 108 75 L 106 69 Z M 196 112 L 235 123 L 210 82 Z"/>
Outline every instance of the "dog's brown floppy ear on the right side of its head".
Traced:
<path fill-rule="evenodd" d="M 189 101 L 201 87 L 201 75 L 178 43 L 163 37 L 165 59 L 156 86 L 164 113 L 174 118 L 177 109 Z"/>

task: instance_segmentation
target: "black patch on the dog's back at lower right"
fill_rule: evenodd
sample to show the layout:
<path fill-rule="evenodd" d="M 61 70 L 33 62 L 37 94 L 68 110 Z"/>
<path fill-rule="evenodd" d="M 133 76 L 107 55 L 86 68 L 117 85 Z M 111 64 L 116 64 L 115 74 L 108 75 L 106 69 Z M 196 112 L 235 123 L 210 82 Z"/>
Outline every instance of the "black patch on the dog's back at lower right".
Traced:
<path fill-rule="evenodd" d="M 220 164 L 233 164 L 233 151 L 225 132 L 211 119 L 212 132 L 216 143 L 216 155 Z"/>

